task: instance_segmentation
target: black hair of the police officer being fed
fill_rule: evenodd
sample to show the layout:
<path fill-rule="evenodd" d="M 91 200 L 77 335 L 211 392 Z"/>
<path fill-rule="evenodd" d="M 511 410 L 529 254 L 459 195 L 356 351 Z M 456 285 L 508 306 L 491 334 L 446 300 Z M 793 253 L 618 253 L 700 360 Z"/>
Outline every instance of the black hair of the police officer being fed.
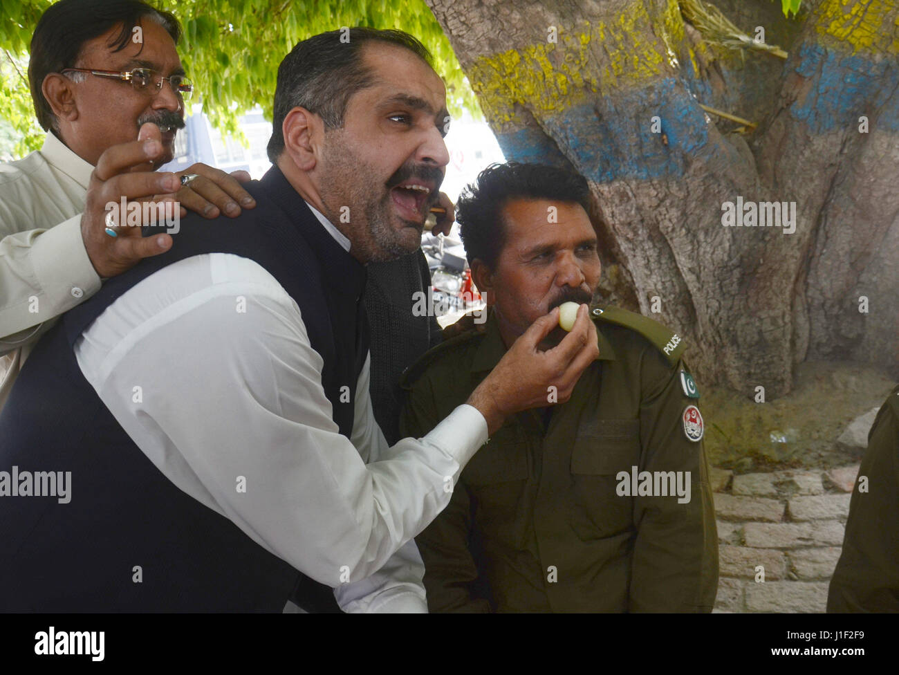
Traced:
<path fill-rule="evenodd" d="M 459 197 L 456 220 L 468 261 L 494 269 L 505 245 L 503 209 L 512 200 L 580 204 L 590 213 L 590 188 L 578 173 L 547 164 L 491 164 Z"/>

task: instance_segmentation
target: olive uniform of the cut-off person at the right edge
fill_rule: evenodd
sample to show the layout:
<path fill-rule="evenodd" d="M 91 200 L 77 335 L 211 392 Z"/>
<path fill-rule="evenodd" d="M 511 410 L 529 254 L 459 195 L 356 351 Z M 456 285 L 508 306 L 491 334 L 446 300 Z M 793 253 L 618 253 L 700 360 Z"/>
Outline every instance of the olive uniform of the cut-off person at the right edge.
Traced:
<path fill-rule="evenodd" d="M 868 432 L 827 611 L 899 612 L 899 386 Z"/>

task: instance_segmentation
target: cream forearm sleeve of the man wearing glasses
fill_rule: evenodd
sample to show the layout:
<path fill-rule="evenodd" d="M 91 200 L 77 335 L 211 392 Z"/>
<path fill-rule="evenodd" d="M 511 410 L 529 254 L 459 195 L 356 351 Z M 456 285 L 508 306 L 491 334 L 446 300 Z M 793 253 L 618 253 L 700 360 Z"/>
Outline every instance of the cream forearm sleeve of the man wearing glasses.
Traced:
<path fill-rule="evenodd" d="M 9 215 L 3 215 L 7 218 Z M 2 231 L 10 228 L 3 223 Z M 100 289 L 81 238 L 81 214 L 0 239 L 0 354 L 36 342 L 42 325 Z"/>

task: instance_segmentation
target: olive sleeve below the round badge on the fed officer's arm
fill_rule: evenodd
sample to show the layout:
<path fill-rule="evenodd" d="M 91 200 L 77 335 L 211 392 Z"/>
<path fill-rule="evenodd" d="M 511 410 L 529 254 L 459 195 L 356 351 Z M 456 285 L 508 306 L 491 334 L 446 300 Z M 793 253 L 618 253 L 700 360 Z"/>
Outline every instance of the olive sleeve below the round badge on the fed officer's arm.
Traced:
<path fill-rule="evenodd" d="M 690 498 L 634 498 L 636 540 L 629 591 L 630 611 L 710 612 L 718 582 L 715 507 L 702 440 L 687 438 L 682 415 L 690 404 L 681 388 L 683 362 L 674 369 L 648 348 L 641 377 L 641 470 L 683 472 Z"/>

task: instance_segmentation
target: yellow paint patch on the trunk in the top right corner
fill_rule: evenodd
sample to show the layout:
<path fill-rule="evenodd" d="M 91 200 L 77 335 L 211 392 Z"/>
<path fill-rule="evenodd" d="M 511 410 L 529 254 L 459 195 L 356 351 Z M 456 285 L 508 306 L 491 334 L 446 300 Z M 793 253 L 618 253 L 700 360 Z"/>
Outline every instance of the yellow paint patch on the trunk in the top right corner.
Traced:
<path fill-rule="evenodd" d="M 825 0 L 816 31 L 851 46 L 853 52 L 899 54 L 895 0 Z"/>

